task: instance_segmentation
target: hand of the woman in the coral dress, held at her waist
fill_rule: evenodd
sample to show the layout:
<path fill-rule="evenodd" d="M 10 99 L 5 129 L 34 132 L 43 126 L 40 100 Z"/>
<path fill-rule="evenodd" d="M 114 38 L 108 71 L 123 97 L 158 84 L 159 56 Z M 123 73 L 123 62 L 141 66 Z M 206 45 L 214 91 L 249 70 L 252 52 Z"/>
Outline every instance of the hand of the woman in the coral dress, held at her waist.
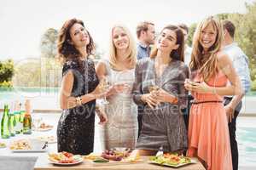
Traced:
<path fill-rule="evenodd" d="M 198 94 L 208 94 L 211 92 L 210 86 L 206 82 L 185 82 L 185 88 Z"/>

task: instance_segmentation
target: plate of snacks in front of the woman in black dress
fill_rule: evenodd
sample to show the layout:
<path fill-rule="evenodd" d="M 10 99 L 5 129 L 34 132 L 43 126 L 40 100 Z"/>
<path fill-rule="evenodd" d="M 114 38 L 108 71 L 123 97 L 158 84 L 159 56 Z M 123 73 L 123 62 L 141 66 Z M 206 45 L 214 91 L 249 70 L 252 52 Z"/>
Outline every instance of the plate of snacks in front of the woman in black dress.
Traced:
<path fill-rule="evenodd" d="M 58 163 L 75 163 L 81 160 L 81 156 L 74 156 L 72 153 L 68 153 L 66 151 L 62 151 L 59 153 L 49 153 L 48 156 L 49 161 Z"/>

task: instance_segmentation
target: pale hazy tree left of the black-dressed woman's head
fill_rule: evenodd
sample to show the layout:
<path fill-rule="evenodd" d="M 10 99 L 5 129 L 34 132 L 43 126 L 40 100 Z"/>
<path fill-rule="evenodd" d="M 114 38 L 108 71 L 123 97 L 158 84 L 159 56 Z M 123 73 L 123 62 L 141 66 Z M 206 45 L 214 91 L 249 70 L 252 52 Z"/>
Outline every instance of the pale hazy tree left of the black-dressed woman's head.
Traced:
<path fill-rule="evenodd" d="M 47 31 L 44 32 L 44 35 L 42 36 L 40 42 L 42 57 L 51 59 L 55 58 L 55 55 L 57 54 L 57 37 L 58 31 L 54 28 L 49 28 Z"/>

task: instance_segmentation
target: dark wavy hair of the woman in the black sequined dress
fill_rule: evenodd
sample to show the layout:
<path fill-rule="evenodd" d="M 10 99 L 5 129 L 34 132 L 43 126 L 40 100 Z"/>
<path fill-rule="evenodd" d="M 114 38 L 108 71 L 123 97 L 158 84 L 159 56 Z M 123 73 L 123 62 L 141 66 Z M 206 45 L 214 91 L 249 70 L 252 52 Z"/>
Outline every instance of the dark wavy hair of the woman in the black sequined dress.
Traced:
<path fill-rule="evenodd" d="M 82 54 L 80 54 L 79 50 L 75 48 L 73 44 L 69 43 L 71 41 L 70 29 L 76 23 L 84 26 L 84 22 L 82 20 L 74 18 L 71 20 L 67 20 L 61 27 L 61 31 L 59 32 L 57 42 L 58 56 L 63 62 L 66 62 L 67 60 L 77 61 L 79 67 L 83 67 L 81 65 L 82 62 L 79 59 L 82 56 Z M 90 32 L 87 31 L 87 33 L 90 37 L 90 42 L 86 46 L 86 53 L 90 55 L 93 54 L 95 50 L 95 44 L 93 42 L 92 37 L 90 36 Z"/>

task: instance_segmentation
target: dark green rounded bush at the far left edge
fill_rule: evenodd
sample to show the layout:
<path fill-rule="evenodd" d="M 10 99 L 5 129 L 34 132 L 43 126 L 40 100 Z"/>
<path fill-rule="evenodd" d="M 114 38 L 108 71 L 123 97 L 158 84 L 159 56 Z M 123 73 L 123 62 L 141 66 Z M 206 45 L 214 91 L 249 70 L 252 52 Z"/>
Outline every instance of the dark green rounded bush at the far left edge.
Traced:
<path fill-rule="evenodd" d="M 0 82 L 9 82 L 14 76 L 14 61 L 8 59 L 6 61 L 0 61 Z"/>

